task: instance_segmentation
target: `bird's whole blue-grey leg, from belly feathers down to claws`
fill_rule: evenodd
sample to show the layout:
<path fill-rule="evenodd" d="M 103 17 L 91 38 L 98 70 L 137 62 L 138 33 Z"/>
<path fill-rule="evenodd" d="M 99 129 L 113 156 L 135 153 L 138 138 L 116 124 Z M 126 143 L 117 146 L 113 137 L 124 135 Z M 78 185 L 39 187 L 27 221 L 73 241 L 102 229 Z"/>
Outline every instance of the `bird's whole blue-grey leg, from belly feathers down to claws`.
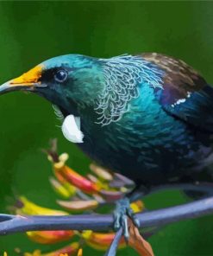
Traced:
<path fill-rule="evenodd" d="M 140 189 L 141 186 L 135 186 L 130 193 L 125 195 L 122 199 L 116 202 L 116 209 L 114 211 L 114 229 L 117 231 L 122 227 L 123 235 L 126 240 L 128 240 L 128 218 L 130 218 L 136 227 L 140 227 L 140 222 L 136 218 L 133 209 L 130 207 L 130 202 L 134 202 L 141 195 L 147 194 L 145 190 Z M 141 191 L 139 191 L 139 189 Z"/>

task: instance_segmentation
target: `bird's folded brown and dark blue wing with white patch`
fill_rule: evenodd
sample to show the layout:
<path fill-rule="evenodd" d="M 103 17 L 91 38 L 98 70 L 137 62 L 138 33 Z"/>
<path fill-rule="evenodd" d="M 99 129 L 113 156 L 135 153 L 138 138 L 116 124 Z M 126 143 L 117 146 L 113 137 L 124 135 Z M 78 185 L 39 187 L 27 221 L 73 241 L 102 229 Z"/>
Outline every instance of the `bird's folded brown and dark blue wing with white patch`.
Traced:
<path fill-rule="evenodd" d="M 213 132 L 213 88 L 184 61 L 163 54 L 142 54 L 142 58 L 165 71 L 163 88 L 156 98 L 172 116 L 204 131 Z"/>

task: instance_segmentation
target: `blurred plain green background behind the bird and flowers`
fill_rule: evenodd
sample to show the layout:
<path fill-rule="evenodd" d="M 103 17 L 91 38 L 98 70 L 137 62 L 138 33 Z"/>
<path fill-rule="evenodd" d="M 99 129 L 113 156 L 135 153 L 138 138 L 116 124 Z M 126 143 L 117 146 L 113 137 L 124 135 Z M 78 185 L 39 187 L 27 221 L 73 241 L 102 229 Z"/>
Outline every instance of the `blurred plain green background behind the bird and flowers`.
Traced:
<path fill-rule="evenodd" d="M 0 2 L 0 83 L 60 54 L 110 57 L 155 51 L 196 67 L 213 83 L 213 2 Z M 35 95 L 0 98 L 0 212 L 14 194 L 57 208 L 48 176 L 52 170 L 41 148 L 59 138 L 69 164 L 85 173 L 90 160 L 63 138 L 52 106 Z M 202 117 L 201 117 L 202 118 Z M 179 192 L 146 200 L 147 208 L 185 202 Z M 11 203 L 11 202 L 10 202 Z M 212 255 L 213 216 L 172 224 L 149 239 L 156 255 Z M 58 246 L 62 246 L 60 244 Z M 0 238 L 0 255 L 14 248 L 47 252 L 25 234 Z M 103 255 L 86 249 L 84 255 Z M 136 255 L 125 249 L 118 255 Z"/>

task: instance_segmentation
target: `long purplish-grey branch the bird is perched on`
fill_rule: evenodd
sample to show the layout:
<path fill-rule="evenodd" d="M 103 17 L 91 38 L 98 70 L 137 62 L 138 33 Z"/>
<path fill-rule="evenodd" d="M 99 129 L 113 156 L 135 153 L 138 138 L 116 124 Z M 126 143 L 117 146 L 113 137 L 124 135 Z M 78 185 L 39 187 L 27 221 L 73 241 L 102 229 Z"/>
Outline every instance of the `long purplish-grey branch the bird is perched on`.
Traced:
<path fill-rule="evenodd" d="M 213 214 L 213 196 L 171 208 L 136 214 L 141 227 L 159 227 L 175 221 Z M 80 214 L 65 216 L 20 216 L 0 214 L 0 234 L 34 230 L 108 231 L 113 226 L 111 214 Z"/>

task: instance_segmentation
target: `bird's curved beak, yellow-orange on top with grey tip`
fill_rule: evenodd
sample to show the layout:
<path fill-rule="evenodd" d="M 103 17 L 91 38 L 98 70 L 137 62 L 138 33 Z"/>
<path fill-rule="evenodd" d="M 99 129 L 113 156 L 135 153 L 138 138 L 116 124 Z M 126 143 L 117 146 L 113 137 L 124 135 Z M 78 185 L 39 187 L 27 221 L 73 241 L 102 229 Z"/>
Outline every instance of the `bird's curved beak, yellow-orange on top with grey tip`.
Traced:
<path fill-rule="evenodd" d="M 16 79 L 9 80 L 0 86 L 0 94 L 20 90 L 34 92 L 37 87 L 46 87 L 40 81 L 42 69 L 43 66 L 38 65 Z"/>

